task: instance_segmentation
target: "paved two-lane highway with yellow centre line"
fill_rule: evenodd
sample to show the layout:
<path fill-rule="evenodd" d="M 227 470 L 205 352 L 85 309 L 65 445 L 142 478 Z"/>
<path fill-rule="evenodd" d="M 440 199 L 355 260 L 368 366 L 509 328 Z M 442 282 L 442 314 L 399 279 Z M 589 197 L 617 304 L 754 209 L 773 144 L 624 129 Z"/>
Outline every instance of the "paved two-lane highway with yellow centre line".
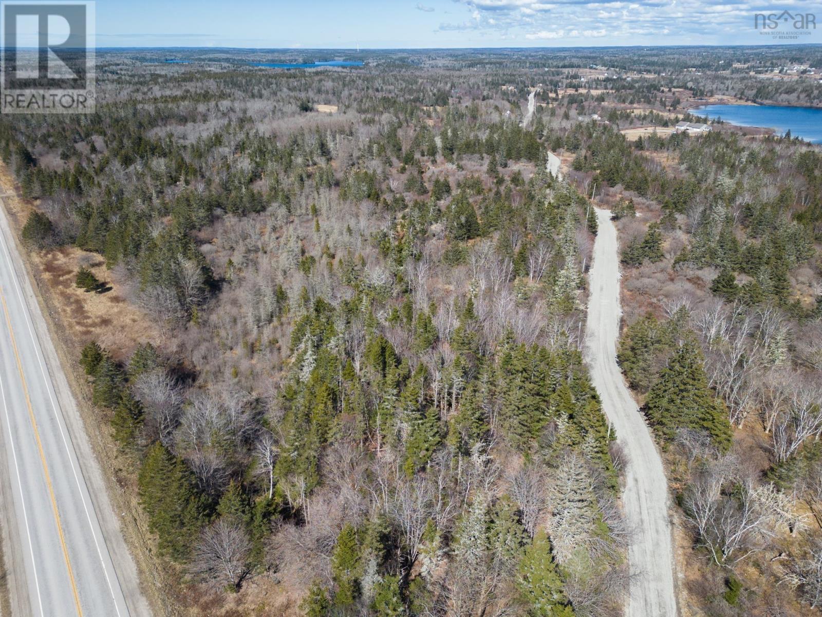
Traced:
<path fill-rule="evenodd" d="M 0 424 L 13 617 L 150 615 L 2 205 Z"/>

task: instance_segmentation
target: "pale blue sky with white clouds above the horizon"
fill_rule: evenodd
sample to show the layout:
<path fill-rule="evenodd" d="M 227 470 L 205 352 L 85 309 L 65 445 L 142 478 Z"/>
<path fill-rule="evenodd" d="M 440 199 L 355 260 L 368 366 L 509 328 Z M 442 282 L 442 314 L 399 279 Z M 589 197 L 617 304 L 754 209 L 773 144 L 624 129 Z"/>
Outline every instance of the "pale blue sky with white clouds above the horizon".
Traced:
<path fill-rule="evenodd" d="M 819 28 L 797 39 L 774 39 L 755 30 L 755 13 L 783 9 L 816 13 Z M 822 43 L 822 5 L 805 0 L 98 0 L 96 21 L 99 47 Z"/>

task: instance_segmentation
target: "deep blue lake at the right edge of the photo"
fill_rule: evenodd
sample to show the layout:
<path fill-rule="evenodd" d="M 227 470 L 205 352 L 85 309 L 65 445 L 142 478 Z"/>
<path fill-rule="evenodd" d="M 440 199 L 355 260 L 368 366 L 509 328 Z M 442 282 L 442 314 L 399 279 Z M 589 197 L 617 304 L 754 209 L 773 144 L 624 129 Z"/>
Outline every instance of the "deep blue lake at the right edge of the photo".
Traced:
<path fill-rule="evenodd" d="M 693 114 L 722 118 L 740 127 L 773 128 L 780 135 L 790 130 L 794 137 L 822 143 L 822 109 L 781 105 L 706 105 Z"/>

